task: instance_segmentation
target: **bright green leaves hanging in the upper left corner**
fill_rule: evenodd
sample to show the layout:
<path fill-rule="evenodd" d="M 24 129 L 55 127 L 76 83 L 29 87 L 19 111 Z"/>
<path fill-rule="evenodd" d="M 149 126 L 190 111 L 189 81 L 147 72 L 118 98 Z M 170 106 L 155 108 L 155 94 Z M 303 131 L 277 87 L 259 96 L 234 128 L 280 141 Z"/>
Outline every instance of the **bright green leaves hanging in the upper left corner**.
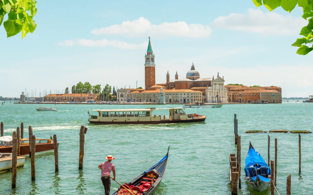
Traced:
<path fill-rule="evenodd" d="M 37 13 L 35 0 L 0 0 L 0 26 L 8 14 L 8 20 L 3 22 L 7 37 L 12 37 L 22 31 L 22 39 L 28 32 L 34 32 L 37 27 L 33 17 Z"/>

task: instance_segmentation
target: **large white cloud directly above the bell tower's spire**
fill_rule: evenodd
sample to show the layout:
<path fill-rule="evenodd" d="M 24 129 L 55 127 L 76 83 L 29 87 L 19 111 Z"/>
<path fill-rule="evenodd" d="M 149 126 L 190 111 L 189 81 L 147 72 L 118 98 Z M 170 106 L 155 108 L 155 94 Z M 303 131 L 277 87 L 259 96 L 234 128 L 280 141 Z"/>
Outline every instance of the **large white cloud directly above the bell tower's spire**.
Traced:
<path fill-rule="evenodd" d="M 202 24 L 187 24 L 186 22 L 163 22 L 159 25 L 152 25 L 151 22 L 140 17 L 134 21 L 124 21 L 121 24 L 114 24 L 109 27 L 94 29 L 95 35 L 120 35 L 125 37 L 193 37 L 203 38 L 211 35 L 212 29 Z"/>

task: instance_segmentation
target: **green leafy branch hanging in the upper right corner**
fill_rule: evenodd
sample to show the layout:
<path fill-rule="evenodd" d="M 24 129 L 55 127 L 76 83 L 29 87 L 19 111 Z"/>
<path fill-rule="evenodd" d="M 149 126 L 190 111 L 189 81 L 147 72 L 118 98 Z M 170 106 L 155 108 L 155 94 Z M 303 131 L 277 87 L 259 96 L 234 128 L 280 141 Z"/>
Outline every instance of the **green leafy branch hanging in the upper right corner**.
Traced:
<path fill-rule="evenodd" d="M 252 0 L 256 7 L 262 5 L 262 0 Z M 272 11 L 277 7 L 282 7 L 285 11 L 291 12 L 298 4 L 303 9 L 302 17 L 309 21 L 309 24 L 300 31 L 302 38 L 298 38 L 291 46 L 297 46 L 297 54 L 306 55 L 313 50 L 313 45 L 308 47 L 307 43 L 313 42 L 313 1 L 312 0 L 263 0 L 263 5 Z"/>

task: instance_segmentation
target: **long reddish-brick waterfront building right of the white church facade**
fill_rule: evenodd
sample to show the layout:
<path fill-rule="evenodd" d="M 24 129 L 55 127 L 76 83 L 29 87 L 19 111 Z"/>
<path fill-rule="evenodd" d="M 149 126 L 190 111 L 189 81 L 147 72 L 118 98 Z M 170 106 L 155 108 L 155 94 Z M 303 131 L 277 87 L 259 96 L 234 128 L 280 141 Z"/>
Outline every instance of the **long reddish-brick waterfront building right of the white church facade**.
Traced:
<path fill-rule="evenodd" d="M 245 85 L 225 85 L 228 88 L 228 102 L 256 103 L 258 100 L 269 100 L 269 103 L 282 103 L 281 88 L 269 87 L 248 87 Z"/>

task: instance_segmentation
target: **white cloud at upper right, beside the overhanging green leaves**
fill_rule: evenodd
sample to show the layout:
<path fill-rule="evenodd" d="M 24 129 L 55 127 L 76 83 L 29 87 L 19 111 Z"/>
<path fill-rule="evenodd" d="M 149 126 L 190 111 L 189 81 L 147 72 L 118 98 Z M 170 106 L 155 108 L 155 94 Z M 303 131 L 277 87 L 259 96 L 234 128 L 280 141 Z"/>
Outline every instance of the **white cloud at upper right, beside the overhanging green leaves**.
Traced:
<path fill-rule="evenodd" d="M 212 26 L 224 29 L 256 32 L 266 35 L 297 35 L 307 21 L 302 17 L 284 16 L 275 12 L 266 12 L 249 8 L 247 15 L 231 13 L 220 16 L 212 22 Z"/>

